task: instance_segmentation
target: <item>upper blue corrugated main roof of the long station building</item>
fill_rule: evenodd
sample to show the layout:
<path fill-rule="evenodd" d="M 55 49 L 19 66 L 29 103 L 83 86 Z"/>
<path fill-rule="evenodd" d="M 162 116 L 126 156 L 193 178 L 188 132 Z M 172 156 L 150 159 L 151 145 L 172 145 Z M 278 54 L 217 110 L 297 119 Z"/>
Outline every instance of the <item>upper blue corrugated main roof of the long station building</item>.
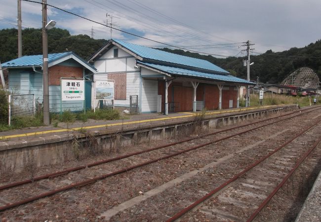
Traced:
<path fill-rule="evenodd" d="M 191 58 L 188 56 L 182 56 L 182 55 L 178 55 L 170 52 L 165 52 L 159 49 L 154 49 L 154 48 L 150 48 L 142 45 L 136 45 L 136 44 L 124 42 L 118 39 L 113 39 L 113 41 L 117 42 L 118 44 L 122 45 L 123 47 L 135 53 L 136 55 L 145 59 L 158 60 L 162 62 L 180 64 L 184 66 L 190 66 L 190 67 L 195 67 L 199 69 L 229 74 L 229 72 L 227 72 L 226 70 L 223 70 L 222 68 L 215 66 L 214 64 L 206 60 Z"/>

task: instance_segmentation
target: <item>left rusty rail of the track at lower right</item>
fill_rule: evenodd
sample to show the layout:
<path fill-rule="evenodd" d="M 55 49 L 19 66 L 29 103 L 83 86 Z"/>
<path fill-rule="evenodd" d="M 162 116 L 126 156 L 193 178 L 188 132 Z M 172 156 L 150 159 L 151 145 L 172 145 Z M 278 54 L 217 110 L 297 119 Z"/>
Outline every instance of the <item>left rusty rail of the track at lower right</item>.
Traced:
<path fill-rule="evenodd" d="M 257 160 L 256 162 L 254 162 L 253 164 L 249 165 L 248 167 L 246 167 L 244 170 L 242 170 L 240 173 L 238 173 L 237 175 L 235 175 L 234 177 L 232 177 L 230 180 L 224 182 L 222 185 L 218 186 L 217 188 L 213 189 L 212 191 L 210 191 L 209 193 L 207 193 L 206 195 L 204 195 L 203 197 L 201 197 L 199 200 L 197 200 L 196 202 L 194 202 L 193 204 L 191 204 L 190 206 L 184 208 L 183 210 L 181 210 L 180 212 L 178 212 L 177 214 L 175 214 L 173 217 L 169 218 L 166 222 L 173 222 L 179 218 L 181 218 L 184 214 L 188 213 L 189 211 L 191 211 L 193 208 L 195 208 L 196 206 L 200 205 L 202 202 L 204 202 L 206 199 L 208 199 L 209 197 L 211 197 L 212 195 L 214 195 L 215 193 L 217 193 L 218 191 L 220 191 L 221 189 L 225 188 L 227 185 L 230 185 L 231 183 L 233 183 L 234 181 L 236 181 L 238 178 L 240 178 L 241 176 L 243 176 L 246 172 L 248 172 L 249 170 L 251 170 L 252 168 L 254 168 L 255 166 L 257 166 L 258 164 L 260 164 L 261 162 L 263 162 L 265 159 L 269 158 L 271 155 L 273 155 L 274 153 L 276 153 L 277 151 L 279 151 L 281 148 L 284 148 L 286 145 L 290 144 L 292 141 L 294 141 L 296 138 L 298 138 L 299 136 L 301 136 L 302 134 L 304 134 L 305 132 L 307 132 L 309 129 L 311 129 L 312 127 L 318 125 L 321 122 L 321 120 L 319 120 L 318 122 L 314 123 L 313 125 L 305 128 L 304 130 L 302 130 L 302 132 L 296 134 L 291 140 L 287 141 L 286 143 L 284 143 L 283 145 L 279 146 L 278 148 L 276 148 L 275 150 L 271 151 L 270 153 L 268 153 L 266 156 L 263 156 L 262 158 L 260 158 L 259 160 Z"/>

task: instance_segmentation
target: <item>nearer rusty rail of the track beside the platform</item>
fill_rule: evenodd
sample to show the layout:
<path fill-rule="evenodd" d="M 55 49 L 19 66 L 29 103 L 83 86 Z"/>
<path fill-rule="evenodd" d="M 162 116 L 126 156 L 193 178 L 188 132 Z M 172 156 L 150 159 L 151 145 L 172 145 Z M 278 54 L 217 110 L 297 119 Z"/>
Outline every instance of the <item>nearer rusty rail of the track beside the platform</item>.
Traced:
<path fill-rule="evenodd" d="M 281 119 L 281 120 L 276 121 L 276 122 L 281 122 L 281 121 L 284 121 L 286 119 L 289 119 L 289 118 L 292 118 L 292 117 L 296 117 L 298 115 L 305 114 L 305 113 L 307 113 L 307 112 L 304 112 L 304 113 L 301 112 L 300 114 L 297 114 L 297 115 L 291 116 L 291 117 L 287 117 L 285 119 Z M 197 148 L 205 147 L 205 146 L 211 145 L 213 143 L 217 143 L 219 141 L 226 140 L 226 139 L 229 139 L 229 138 L 232 138 L 232 137 L 235 137 L 235 136 L 238 136 L 238 135 L 241 135 L 241 134 L 256 130 L 258 128 L 262 128 L 262 127 L 274 124 L 276 122 L 268 123 L 268 124 L 265 124 L 265 125 L 262 125 L 262 126 L 258 126 L 258 127 L 246 130 L 246 131 L 242 131 L 241 133 L 237 133 L 237 134 L 234 134 L 234 135 L 226 136 L 224 138 L 217 139 L 217 140 L 214 140 L 214 141 L 211 141 L 211 142 L 208 142 L 208 143 L 205 143 L 205 144 L 201 144 L 201 145 L 198 145 L 198 146 L 195 146 L 195 147 L 192 147 L 192 148 L 184 149 L 182 151 L 175 152 L 173 154 L 169 154 L 169 155 L 166 155 L 166 156 L 154 159 L 154 160 L 149 160 L 149 161 L 146 161 L 146 162 L 143 162 L 143 163 L 140 163 L 140 164 L 136 164 L 136 165 L 133 165 L 133 166 L 130 166 L 130 167 L 127 167 L 127 168 L 123 168 L 123 169 L 120 169 L 118 171 L 114 171 L 114 172 L 109 173 L 109 174 L 104 174 L 104 175 L 101 175 L 101 176 L 98 176 L 98 177 L 94 177 L 92 179 L 88 179 L 88 180 L 81 181 L 81 182 L 78 182 L 78 183 L 73 183 L 71 185 L 63 186 L 63 187 L 58 188 L 58 189 L 53 189 L 51 191 L 44 192 L 44 193 L 41 193 L 40 195 L 36 195 L 36 196 L 33 196 L 33 197 L 29 197 L 29 198 L 26 198 L 26 199 L 21 200 L 21 201 L 16 201 L 16 202 L 13 202 L 13 203 L 9 203 L 7 205 L 0 206 L 0 211 L 6 210 L 6 209 L 10 209 L 10 208 L 22 205 L 22 204 L 26 204 L 26 203 L 38 200 L 40 198 L 44 198 L 44 197 L 47 197 L 47 196 L 50 196 L 50 195 L 53 195 L 53 194 L 56 194 L 56 193 L 59 193 L 59 192 L 62 192 L 62 191 L 66 191 L 66 190 L 69 190 L 69 189 L 72 189 L 72 188 L 75 188 L 75 187 L 80 187 L 80 186 L 92 184 L 92 183 L 95 183 L 96 181 L 103 180 L 103 179 L 106 179 L 108 177 L 120 174 L 120 173 L 128 172 L 128 171 L 133 170 L 135 168 L 138 168 L 138 167 L 141 167 L 141 166 L 145 166 L 145 165 L 148 165 L 148 164 L 151 164 L 151 163 L 155 163 L 157 161 L 160 161 L 160 160 L 163 160 L 163 159 L 166 159 L 166 158 L 170 158 L 172 156 L 176 156 L 176 155 L 179 155 L 179 154 L 182 154 L 182 153 L 185 153 L 185 152 L 197 149 Z M 223 130 L 223 131 L 226 131 L 226 130 Z M 115 157 L 115 158 L 117 158 L 117 157 Z"/>

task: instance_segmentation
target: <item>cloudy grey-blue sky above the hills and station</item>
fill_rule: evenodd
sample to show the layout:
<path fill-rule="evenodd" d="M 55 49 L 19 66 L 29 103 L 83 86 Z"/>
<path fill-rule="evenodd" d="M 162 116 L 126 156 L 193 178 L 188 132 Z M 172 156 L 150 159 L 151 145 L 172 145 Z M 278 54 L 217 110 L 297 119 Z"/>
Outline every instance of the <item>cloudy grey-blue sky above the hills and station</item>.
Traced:
<path fill-rule="evenodd" d="M 104 24 L 106 19 L 111 23 L 108 13 L 120 30 L 225 56 L 244 56 L 240 42 L 246 40 L 255 44 L 253 52 L 277 52 L 321 38 L 321 0 L 47 0 L 47 4 Z M 50 6 L 48 17 L 71 35 L 91 36 L 93 29 L 96 39 L 111 37 L 110 28 Z M 16 24 L 17 0 L 1 0 L 0 29 L 16 28 Z M 23 28 L 41 27 L 41 4 L 22 1 L 22 24 Z M 116 30 L 112 37 L 162 46 Z"/>

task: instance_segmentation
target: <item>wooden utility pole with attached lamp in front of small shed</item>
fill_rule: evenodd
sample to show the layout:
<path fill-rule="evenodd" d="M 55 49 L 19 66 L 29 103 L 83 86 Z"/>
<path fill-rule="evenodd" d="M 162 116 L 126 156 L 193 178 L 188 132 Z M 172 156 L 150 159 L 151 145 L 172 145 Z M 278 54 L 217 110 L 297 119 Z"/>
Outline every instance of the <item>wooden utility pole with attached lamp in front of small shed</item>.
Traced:
<path fill-rule="evenodd" d="M 49 125 L 49 82 L 48 82 L 48 37 L 47 30 L 52 29 L 56 22 L 47 24 L 47 0 L 42 0 L 42 87 L 43 87 L 43 124 Z"/>

